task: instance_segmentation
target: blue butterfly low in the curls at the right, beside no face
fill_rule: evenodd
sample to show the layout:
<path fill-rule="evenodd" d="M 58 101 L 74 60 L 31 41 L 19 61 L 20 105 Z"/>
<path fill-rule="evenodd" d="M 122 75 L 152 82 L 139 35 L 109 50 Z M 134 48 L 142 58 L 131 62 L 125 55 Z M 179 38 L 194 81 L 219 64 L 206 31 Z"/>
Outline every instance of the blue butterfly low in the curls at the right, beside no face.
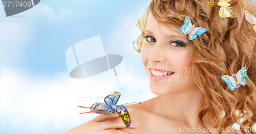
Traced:
<path fill-rule="evenodd" d="M 237 74 L 232 74 L 232 76 L 223 75 L 221 76 L 221 78 L 223 79 L 224 82 L 226 82 L 228 88 L 233 91 L 235 88 L 240 87 L 239 83 L 243 86 L 246 85 L 246 79 L 243 78 L 246 76 L 246 67 L 243 67 L 238 71 Z"/>

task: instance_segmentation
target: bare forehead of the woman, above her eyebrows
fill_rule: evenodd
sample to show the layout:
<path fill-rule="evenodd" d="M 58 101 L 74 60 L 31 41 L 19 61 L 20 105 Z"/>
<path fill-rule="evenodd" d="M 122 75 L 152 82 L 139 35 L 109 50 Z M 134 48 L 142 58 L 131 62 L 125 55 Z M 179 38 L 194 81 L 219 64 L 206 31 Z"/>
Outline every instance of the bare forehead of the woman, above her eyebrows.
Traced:
<path fill-rule="evenodd" d="M 187 39 L 187 36 L 180 33 L 180 27 L 177 25 L 167 25 L 162 22 L 157 21 L 151 13 L 148 14 L 145 31 L 157 32 L 159 31 L 163 36 L 178 36 Z"/>

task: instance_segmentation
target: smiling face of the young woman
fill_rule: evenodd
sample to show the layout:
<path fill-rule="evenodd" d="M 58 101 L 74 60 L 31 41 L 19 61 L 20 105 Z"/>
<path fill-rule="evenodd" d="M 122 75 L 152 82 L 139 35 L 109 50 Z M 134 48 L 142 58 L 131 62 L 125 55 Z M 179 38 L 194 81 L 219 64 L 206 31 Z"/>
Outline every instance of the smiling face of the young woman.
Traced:
<path fill-rule="evenodd" d="M 192 76 L 188 36 L 179 26 L 167 26 L 150 13 L 141 47 L 141 61 L 156 95 L 176 94 L 197 88 Z M 191 90 L 190 90 L 191 91 Z"/>

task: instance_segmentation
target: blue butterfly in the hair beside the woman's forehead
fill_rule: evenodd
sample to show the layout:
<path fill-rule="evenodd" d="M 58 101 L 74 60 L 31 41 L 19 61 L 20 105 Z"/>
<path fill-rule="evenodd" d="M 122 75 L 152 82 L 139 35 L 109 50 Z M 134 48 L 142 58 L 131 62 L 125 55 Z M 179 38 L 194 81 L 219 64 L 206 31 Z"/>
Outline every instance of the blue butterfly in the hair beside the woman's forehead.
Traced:
<path fill-rule="evenodd" d="M 194 40 L 197 38 L 197 35 L 200 36 L 203 33 L 207 31 L 205 28 L 197 27 L 191 23 L 191 20 L 188 16 L 185 17 L 184 23 L 180 28 L 180 33 L 184 33 L 185 35 L 188 35 L 189 40 Z"/>

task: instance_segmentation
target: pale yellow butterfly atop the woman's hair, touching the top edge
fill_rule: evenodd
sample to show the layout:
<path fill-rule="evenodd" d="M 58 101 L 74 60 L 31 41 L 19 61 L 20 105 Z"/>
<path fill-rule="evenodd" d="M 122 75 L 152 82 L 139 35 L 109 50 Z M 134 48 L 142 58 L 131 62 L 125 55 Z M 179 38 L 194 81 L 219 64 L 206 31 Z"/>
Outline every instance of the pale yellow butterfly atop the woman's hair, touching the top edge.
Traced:
<path fill-rule="evenodd" d="M 234 9 L 232 7 L 229 7 L 230 4 L 229 2 L 231 2 L 232 0 L 220 0 L 220 2 L 218 3 L 211 3 L 211 2 L 205 2 L 208 3 L 208 5 L 219 5 L 221 6 L 220 10 L 219 10 L 219 15 L 222 18 L 226 18 L 226 17 L 236 17 L 236 12 L 234 12 Z"/>

